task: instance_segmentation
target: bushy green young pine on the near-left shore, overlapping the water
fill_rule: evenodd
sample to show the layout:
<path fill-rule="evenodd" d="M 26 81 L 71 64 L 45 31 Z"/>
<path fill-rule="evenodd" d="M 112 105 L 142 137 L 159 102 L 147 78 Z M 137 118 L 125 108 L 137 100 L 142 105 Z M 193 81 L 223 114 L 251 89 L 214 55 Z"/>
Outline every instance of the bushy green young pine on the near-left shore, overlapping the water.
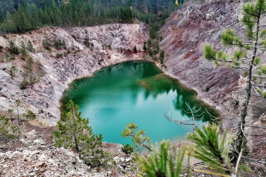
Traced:
<path fill-rule="evenodd" d="M 81 117 L 79 106 L 72 100 L 66 104 L 69 112 L 65 112 L 61 120 L 57 122 L 58 130 L 53 131 L 56 138 L 56 147 L 71 147 L 79 154 L 80 158 L 87 163 L 94 165 L 100 164 L 103 157 L 102 135 L 95 136 L 91 127 L 88 126 L 89 120 Z"/>

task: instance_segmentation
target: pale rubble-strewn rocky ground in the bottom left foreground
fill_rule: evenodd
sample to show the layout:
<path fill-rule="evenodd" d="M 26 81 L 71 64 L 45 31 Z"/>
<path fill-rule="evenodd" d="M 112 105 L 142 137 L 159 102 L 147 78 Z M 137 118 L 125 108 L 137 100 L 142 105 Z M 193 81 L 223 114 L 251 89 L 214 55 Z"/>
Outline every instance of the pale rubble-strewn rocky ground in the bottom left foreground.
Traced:
<path fill-rule="evenodd" d="M 120 152 L 122 145 L 103 143 L 103 150 L 113 153 L 113 161 L 105 168 L 90 168 L 71 149 L 40 147 L 16 148 L 0 153 L 0 176 L 136 176 L 131 158 Z M 36 147 L 39 147 L 36 149 Z M 124 175 L 127 174 L 127 175 Z"/>

